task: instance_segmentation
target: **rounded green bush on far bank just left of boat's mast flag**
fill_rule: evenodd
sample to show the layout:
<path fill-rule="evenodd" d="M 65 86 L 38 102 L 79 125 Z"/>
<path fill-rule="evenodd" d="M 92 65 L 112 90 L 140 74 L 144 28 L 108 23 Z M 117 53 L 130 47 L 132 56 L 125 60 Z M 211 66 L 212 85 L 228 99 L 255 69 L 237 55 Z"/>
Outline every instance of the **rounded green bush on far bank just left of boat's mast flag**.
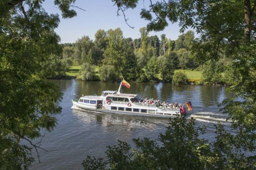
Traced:
<path fill-rule="evenodd" d="M 99 78 L 101 81 L 115 81 L 116 77 L 113 65 L 102 65 L 99 67 Z"/>

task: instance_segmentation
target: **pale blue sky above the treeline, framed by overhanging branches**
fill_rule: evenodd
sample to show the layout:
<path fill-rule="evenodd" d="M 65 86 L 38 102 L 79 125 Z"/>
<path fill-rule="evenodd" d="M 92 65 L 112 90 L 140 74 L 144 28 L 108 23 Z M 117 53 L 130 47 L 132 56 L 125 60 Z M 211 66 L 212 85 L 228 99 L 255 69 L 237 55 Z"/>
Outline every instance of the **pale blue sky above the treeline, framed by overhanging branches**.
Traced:
<path fill-rule="evenodd" d="M 149 1 L 149 0 L 148 0 Z M 56 32 L 61 37 L 61 43 L 73 43 L 82 36 L 89 36 L 94 39 L 94 35 L 98 29 L 115 29 L 120 27 L 125 38 L 131 37 L 133 39 L 140 37 L 140 28 L 147 26 L 148 21 L 142 19 L 140 16 L 141 9 L 148 8 L 147 0 L 140 0 L 135 9 L 128 9 L 125 11 L 127 22 L 135 28 L 129 27 L 125 23 L 123 15 L 117 16 L 117 7 L 111 0 L 76 0 L 74 5 L 81 7 L 84 10 L 75 8 L 77 16 L 73 18 L 61 18 L 59 9 L 54 6 L 53 0 L 46 0 L 43 7 L 48 13 L 59 13 L 60 23 L 56 28 Z M 122 14 L 120 12 L 120 14 Z M 176 40 L 181 34 L 179 32 L 178 23 L 169 23 L 169 26 L 163 31 L 151 31 L 149 36 L 166 34 L 167 38 Z"/>

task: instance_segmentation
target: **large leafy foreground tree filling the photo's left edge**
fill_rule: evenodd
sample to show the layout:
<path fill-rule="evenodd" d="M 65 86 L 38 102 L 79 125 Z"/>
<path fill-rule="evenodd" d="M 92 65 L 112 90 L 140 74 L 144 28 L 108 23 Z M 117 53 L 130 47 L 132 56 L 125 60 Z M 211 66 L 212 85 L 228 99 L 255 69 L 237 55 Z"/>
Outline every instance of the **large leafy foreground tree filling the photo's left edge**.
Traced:
<path fill-rule="evenodd" d="M 73 2 L 54 0 L 64 18 L 76 15 L 69 8 Z M 34 161 L 32 148 L 38 154 L 41 148 L 32 139 L 43 137 L 42 128 L 53 130 L 61 111 L 61 92 L 47 80 L 55 71 L 49 62 L 61 51 L 54 32 L 59 16 L 48 14 L 41 0 L 2 0 L 0 4 L 0 166 L 28 169 Z"/>

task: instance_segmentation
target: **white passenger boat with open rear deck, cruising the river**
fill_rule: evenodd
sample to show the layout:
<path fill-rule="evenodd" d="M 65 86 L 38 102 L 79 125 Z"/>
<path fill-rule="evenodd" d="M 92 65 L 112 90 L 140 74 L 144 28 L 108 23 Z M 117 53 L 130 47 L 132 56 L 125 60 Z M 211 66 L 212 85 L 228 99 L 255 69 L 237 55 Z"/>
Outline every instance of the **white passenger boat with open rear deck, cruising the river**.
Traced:
<path fill-rule="evenodd" d="M 180 108 L 173 108 L 161 106 L 158 103 L 150 104 L 149 102 L 136 102 L 142 99 L 138 94 L 120 93 L 122 83 L 123 80 L 121 81 L 117 91 L 106 90 L 102 91 L 100 96 L 85 95 L 81 96 L 79 99 L 72 100 L 73 106 L 74 108 L 78 107 L 93 111 L 154 117 L 175 117 L 186 114 L 186 108 L 184 105 L 180 105 Z"/>

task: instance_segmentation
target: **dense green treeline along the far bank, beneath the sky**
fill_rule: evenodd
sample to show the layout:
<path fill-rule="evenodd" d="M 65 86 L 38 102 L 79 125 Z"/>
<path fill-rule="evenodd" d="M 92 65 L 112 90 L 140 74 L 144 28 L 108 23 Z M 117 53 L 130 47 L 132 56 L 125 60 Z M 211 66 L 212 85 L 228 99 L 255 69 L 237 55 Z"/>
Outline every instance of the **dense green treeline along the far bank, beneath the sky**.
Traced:
<path fill-rule="evenodd" d="M 172 82 L 175 69 L 203 69 L 202 83 L 232 83 L 223 78 L 211 78 L 214 74 L 221 76 L 221 72 L 225 71 L 223 65 L 230 61 L 224 56 L 215 63 L 215 72 L 207 71 L 209 63 L 198 64 L 192 51 L 196 41 L 193 31 L 179 35 L 177 40 L 171 40 L 165 34 L 161 35 L 161 39 L 157 35 L 149 36 L 146 27 L 142 27 L 140 33 L 140 38 L 132 39 L 124 38 L 120 28 L 107 31 L 99 29 L 94 40 L 83 36 L 75 43 L 61 44 L 63 68 L 60 67 L 60 70 L 67 70 L 71 65 L 81 65 L 77 78 L 82 80 L 114 81 L 125 77 L 140 82 L 159 81 L 159 78 L 163 82 Z M 95 67 L 99 67 L 98 76 Z M 179 79 L 182 78 L 180 76 Z M 174 82 L 188 81 L 174 79 Z"/>

